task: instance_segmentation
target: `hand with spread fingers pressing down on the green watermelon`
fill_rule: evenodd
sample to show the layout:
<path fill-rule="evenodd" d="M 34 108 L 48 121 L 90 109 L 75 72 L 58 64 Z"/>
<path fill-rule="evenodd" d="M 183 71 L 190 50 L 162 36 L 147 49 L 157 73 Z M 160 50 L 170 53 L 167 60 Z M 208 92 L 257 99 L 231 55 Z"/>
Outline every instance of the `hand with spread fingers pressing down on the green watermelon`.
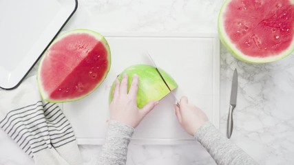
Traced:
<path fill-rule="evenodd" d="M 145 115 L 154 109 L 158 101 L 151 101 L 142 109 L 138 109 L 136 100 L 139 84 L 138 75 L 133 76 L 129 93 L 127 93 L 127 82 L 127 74 L 123 74 L 121 83 L 116 80 L 113 100 L 110 103 L 110 119 L 136 128 Z"/>

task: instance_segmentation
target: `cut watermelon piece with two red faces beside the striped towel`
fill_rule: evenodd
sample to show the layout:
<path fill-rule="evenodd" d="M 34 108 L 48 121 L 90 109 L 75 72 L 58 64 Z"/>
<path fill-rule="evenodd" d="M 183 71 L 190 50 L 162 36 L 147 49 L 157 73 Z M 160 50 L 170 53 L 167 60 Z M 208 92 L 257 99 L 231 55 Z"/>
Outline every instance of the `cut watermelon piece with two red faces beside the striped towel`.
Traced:
<path fill-rule="evenodd" d="M 94 91 L 111 65 L 109 45 L 92 30 L 72 30 L 59 36 L 43 54 L 38 69 L 43 100 L 70 102 Z"/>

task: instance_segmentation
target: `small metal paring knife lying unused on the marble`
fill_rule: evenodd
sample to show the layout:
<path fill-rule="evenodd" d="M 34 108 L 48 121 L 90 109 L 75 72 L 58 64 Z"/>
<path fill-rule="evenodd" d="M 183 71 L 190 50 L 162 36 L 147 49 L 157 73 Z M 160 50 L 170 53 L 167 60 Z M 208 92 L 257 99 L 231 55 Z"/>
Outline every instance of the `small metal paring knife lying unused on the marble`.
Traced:
<path fill-rule="evenodd" d="M 233 110 L 237 105 L 237 91 L 238 91 L 238 72 L 235 69 L 232 80 L 231 87 L 231 98 L 230 98 L 230 107 L 229 107 L 229 115 L 227 121 L 227 137 L 228 139 L 231 137 L 233 132 Z"/>

